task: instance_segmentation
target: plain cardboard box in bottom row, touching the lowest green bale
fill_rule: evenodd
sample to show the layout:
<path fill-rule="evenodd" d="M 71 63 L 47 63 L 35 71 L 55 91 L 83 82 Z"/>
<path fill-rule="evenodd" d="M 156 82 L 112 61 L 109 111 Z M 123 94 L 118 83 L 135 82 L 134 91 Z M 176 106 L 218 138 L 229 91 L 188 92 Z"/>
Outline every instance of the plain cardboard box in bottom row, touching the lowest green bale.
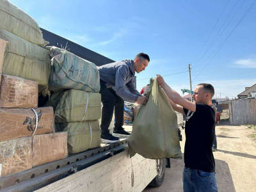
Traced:
<path fill-rule="evenodd" d="M 33 136 L 33 167 L 67 156 L 67 132 Z"/>

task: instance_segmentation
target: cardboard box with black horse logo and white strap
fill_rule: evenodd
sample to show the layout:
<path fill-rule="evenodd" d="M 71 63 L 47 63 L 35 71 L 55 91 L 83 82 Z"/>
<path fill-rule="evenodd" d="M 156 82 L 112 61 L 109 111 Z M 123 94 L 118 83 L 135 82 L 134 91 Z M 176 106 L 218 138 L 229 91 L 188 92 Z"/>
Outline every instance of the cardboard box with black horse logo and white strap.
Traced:
<path fill-rule="evenodd" d="M 36 126 L 36 115 L 32 109 L 3 109 L 0 108 L 0 141 L 45 134 L 52 132 L 53 108 L 36 108 L 38 125 Z"/>

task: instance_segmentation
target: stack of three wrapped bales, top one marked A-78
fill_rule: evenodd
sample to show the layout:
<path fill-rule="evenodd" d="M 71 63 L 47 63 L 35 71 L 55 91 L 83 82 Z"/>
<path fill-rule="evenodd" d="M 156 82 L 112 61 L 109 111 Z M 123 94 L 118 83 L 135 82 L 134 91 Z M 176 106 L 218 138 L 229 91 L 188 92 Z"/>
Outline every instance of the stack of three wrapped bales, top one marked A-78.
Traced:
<path fill-rule="evenodd" d="M 57 131 L 68 132 L 68 152 L 74 154 L 100 146 L 101 95 L 99 71 L 94 63 L 57 47 L 52 57 L 50 100 Z"/>

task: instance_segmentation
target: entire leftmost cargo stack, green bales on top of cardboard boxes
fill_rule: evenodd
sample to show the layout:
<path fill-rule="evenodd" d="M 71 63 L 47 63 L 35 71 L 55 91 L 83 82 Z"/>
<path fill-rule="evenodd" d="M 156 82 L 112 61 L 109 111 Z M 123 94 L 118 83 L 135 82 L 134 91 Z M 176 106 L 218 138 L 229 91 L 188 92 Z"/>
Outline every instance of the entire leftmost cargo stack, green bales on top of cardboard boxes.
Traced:
<path fill-rule="evenodd" d="M 38 24 L 0 1 L 0 177 L 67 157 L 67 132 L 54 131 L 51 107 L 38 108 L 51 72 Z M 24 79 L 23 79 L 24 78 Z M 53 125 L 53 126 L 52 126 Z"/>

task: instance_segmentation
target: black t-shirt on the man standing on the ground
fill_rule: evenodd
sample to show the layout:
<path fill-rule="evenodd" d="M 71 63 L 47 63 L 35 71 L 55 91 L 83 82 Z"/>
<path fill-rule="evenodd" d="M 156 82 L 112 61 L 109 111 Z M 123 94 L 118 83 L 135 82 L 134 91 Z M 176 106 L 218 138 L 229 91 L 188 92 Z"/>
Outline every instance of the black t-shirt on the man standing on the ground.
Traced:
<path fill-rule="evenodd" d="M 204 172 L 215 172 L 212 144 L 215 134 L 215 112 L 211 106 L 196 103 L 196 112 L 183 108 L 186 114 L 185 166 Z"/>

